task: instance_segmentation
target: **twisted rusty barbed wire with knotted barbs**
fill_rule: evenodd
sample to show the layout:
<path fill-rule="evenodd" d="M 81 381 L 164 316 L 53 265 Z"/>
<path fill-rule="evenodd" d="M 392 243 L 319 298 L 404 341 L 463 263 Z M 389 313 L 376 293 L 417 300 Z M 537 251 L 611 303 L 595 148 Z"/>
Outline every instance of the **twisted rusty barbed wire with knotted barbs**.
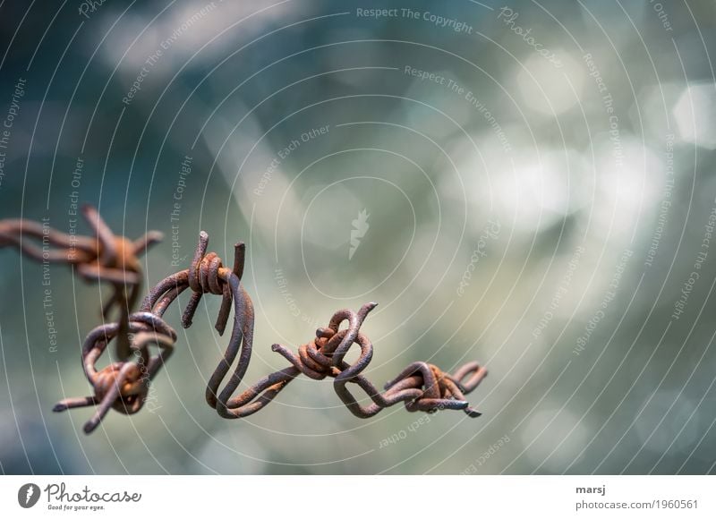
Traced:
<path fill-rule="evenodd" d="M 478 362 L 467 362 L 452 374 L 428 362 L 413 362 L 395 379 L 388 381 L 382 392 L 362 375 L 371 362 L 373 345 L 362 334 L 361 327 L 377 306 L 375 302 L 363 304 L 357 312 L 335 312 L 328 321 L 328 327 L 316 330 L 316 336 L 299 346 L 297 354 L 284 345 L 272 345 L 271 350 L 282 355 L 290 366 L 267 375 L 234 396 L 248 370 L 253 347 L 253 303 L 241 282 L 244 244 L 234 245 L 234 265 L 227 268 L 216 252 L 207 253 L 209 235 L 201 231 L 190 268 L 164 278 L 149 289 L 140 310 L 130 313 L 141 286 L 141 265 L 137 255 L 157 242 L 160 234 L 148 233 L 137 242 L 131 242 L 112 234 L 95 209 L 85 207 L 84 215 L 96 233 L 95 238 L 47 230 L 43 225 L 28 220 L 3 220 L 0 221 L 0 247 L 14 245 L 32 259 L 49 258 L 76 265 L 83 277 L 107 281 L 115 288 L 103 314 L 107 315 L 109 308 L 117 306 L 121 309 L 120 318 L 117 322 L 91 330 L 82 345 L 82 366 L 94 395 L 67 398 L 54 407 L 54 411 L 61 412 L 96 405 L 97 410 L 84 425 L 86 433 L 98 427 L 109 409 L 125 414 L 140 411 L 147 400 L 151 380 L 174 351 L 176 332 L 164 320 L 164 313 L 187 289 L 192 291 L 192 295 L 183 311 L 183 328 L 192 326 L 194 313 L 204 294 L 222 296 L 215 325 L 219 335 L 226 331 L 234 306 L 229 343 L 209 378 L 205 392 L 207 403 L 223 418 L 243 418 L 259 412 L 301 374 L 317 380 L 334 379 L 337 396 L 359 418 L 369 418 L 401 402 L 409 412 L 435 413 L 450 409 L 462 410 L 470 417 L 480 416 L 481 413 L 465 400 L 465 395 L 487 376 L 487 370 Z M 23 234 L 41 239 L 43 245 L 46 241 L 50 242 L 60 249 L 40 251 L 23 241 Z M 69 255 L 71 249 L 74 252 L 72 257 Z M 344 322 L 347 326 L 341 329 Z M 98 359 L 115 338 L 118 342 L 117 361 L 98 370 Z M 351 364 L 345 362 L 345 355 L 353 345 L 358 345 L 361 353 Z M 158 352 L 150 353 L 150 346 L 156 346 Z M 229 375 L 234 362 L 234 370 Z M 227 375 L 229 377 L 222 388 Z M 360 387 L 370 403 L 361 404 L 349 384 Z"/>

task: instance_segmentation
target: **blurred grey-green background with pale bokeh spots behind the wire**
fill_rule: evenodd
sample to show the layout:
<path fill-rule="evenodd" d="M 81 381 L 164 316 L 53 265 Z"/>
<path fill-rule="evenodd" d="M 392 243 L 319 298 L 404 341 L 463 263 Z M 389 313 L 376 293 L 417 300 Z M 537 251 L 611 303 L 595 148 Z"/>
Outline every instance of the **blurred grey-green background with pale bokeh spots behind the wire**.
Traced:
<path fill-rule="evenodd" d="M 245 241 L 244 382 L 286 367 L 271 344 L 376 301 L 368 378 L 480 361 L 482 417 L 361 421 L 302 378 L 222 420 L 204 387 L 227 339 L 205 297 L 188 330 L 166 313 L 179 339 L 154 410 L 85 436 L 90 409 L 51 409 L 90 394 L 98 286 L 51 268 L 54 348 L 42 267 L 5 249 L 4 473 L 714 471 L 716 5 L 410 11 L 0 3 L 0 217 L 68 232 L 79 200 L 117 233 L 162 231 L 145 288 L 189 265 L 202 229 L 229 264 Z"/>

